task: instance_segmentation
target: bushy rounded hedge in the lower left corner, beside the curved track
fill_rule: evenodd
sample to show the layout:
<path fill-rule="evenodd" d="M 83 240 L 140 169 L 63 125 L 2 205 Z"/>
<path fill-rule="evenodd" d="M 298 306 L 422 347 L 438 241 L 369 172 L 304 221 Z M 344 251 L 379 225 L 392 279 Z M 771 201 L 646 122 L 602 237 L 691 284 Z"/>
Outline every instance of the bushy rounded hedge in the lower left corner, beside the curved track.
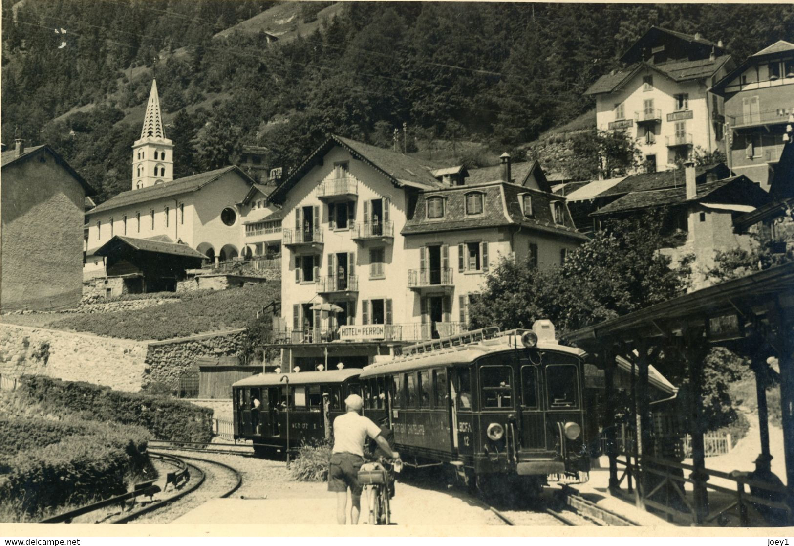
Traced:
<path fill-rule="evenodd" d="M 16 439 L 37 427 L 47 431 L 37 436 L 47 445 Z M 140 427 L 17 419 L 0 421 L 0 428 L 29 446 L 0 463 L 0 499 L 17 503 L 21 513 L 123 494 L 127 478 L 153 470 L 145 453 L 148 432 Z M 58 428 L 62 439 L 50 443 Z"/>

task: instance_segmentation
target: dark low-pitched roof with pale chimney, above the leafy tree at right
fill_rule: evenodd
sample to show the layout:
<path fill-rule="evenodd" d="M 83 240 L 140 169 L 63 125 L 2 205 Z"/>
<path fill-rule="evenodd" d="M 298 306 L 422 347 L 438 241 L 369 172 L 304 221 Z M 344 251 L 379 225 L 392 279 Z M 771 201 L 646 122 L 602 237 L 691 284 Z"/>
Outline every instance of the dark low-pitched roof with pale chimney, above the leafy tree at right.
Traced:
<path fill-rule="evenodd" d="M 717 196 L 722 188 L 730 184 L 736 184 L 735 188 L 730 188 L 731 195 Z M 743 184 L 740 186 L 739 184 Z M 744 175 L 731 176 L 723 180 L 714 182 L 704 182 L 698 185 L 697 194 L 693 199 L 687 199 L 687 190 L 684 186 L 679 188 L 665 188 L 651 190 L 647 192 L 631 192 L 612 203 L 592 212 L 591 216 L 608 215 L 615 212 L 638 211 L 654 207 L 670 207 L 688 202 L 696 202 L 711 196 L 718 199 L 719 203 L 730 203 L 731 201 L 744 201 L 738 204 L 750 204 L 757 206 L 762 202 L 769 201 L 769 196 L 757 186 L 752 180 Z M 764 192 L 764 195 L 756 192 Z"/>

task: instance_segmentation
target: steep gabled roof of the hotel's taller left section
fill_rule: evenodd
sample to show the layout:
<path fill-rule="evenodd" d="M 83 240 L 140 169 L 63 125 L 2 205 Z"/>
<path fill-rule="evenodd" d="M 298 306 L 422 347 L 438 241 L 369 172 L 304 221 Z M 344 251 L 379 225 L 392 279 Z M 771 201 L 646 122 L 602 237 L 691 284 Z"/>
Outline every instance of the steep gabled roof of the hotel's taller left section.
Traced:
<path fill-rule="evenodd" d="M 390 149 L 378 148 L 377 146 L 364 144 L 364 142 L 354 141 L 350 138 L 340 137 L 336 134 L 331 134 L 326 138 L 321 145 L 319 145 L 314 152 L 310 153 L 309 157 L 301 163 L 295 170 L 293 170 L 287 178 L 279 184 L 270 195 L 271 199 L 283 199 L 283 196 L 291 190 L 298 181 L 303 178 L 310 168 L 314 167 L 322 157 L 334 145 L 340 145 L 346 149 L 353 157 L 364 161 L 372 168 L 380 171 L 391 179 L 391 183 L 395 186 L 412 186 L 419 189 L 430 188 L 443 188 L 436 180 L 435 176 L 430 172 L 430 168 L 422 165 L 413 157 L 409 157 L 402 153 L 394 152 Z"/>

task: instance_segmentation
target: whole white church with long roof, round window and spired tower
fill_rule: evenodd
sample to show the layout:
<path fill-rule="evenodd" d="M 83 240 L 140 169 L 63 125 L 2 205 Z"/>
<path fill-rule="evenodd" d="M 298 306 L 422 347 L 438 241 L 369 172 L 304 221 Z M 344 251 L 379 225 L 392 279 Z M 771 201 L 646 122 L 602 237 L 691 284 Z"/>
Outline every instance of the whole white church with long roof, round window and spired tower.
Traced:
<path fill-rule="evenodd" d="M 267 190 L 236 165 L 174 180 L 175 161 L 152 81 L 141 138 L 133 144 L 131 189 L 86 213 L 86 277 L 110 273 L 105 251 L 98 250 L 117 236 L 133 243 L 155 239 L 186 245 L 206 261 L 245 254 L 244 217 L 262 203 Z"/>

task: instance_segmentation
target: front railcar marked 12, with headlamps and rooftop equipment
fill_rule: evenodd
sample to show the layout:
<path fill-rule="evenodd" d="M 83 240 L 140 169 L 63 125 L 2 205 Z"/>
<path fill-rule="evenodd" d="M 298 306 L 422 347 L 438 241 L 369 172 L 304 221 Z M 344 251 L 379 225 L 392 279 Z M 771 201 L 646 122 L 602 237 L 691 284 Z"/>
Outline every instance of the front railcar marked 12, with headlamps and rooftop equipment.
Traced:
<path fill-rule="evenodd" d="M 364 415 L 388 420 L 409 466 L 449 464 L 481 490 L 507 480 L 534 493 L 549 480 L 588 479 L 584 352 L 558 344 L 549 321 L 404 352 L 358 379 Z"/>

